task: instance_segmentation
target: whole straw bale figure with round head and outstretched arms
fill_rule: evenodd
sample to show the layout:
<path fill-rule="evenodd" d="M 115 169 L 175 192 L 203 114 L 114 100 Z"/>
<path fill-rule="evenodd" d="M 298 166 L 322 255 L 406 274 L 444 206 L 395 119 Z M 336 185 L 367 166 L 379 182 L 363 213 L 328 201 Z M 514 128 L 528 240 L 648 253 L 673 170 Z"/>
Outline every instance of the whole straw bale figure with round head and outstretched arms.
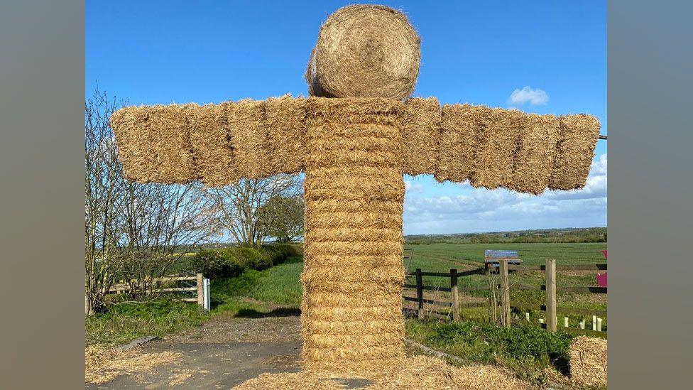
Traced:
<path fill-rule="evenodd" d="M 404 174 L 533 194 L 584 186 L 594 117 L 408 98 L 419 43 L 403 13 L 348 6 L 320 29 L 310 97 L 111 116 L 132 180 L 222 186 L 305 173 L 305 369 L 365 375 L 403 359 Z"/>

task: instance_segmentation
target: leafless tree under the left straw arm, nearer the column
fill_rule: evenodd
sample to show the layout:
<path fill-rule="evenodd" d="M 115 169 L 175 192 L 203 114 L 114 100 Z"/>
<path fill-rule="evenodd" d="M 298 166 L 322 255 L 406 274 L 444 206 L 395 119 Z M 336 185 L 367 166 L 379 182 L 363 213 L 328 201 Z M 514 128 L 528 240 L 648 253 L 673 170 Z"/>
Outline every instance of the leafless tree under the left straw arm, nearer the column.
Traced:
<path fill-rule="evenodd" d="M 207 188 L 204 192 L 212 200 L 211 212 L 218 224 L 236 242 L 260 247 L 271 226 L 264 217 L 262 206 L 279 195 L 294 196 L 300 188 L 298 175 L 276 175 L 266 179 L 241 179 L 234 185 Z"/>

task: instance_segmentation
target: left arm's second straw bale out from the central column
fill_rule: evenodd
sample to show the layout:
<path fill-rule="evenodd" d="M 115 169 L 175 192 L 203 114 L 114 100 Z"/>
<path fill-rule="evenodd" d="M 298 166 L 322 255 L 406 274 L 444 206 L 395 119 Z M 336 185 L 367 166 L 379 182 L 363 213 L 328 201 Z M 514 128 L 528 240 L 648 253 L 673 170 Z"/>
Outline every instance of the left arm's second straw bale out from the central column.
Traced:
<path fill-rule="evenodd" d="M 271 175 L 264 116 L 263 101 L 243 99 L 229 106 L 227 124 L 234 148 L 234 163 L 243 178 L 265 178 Z"/>

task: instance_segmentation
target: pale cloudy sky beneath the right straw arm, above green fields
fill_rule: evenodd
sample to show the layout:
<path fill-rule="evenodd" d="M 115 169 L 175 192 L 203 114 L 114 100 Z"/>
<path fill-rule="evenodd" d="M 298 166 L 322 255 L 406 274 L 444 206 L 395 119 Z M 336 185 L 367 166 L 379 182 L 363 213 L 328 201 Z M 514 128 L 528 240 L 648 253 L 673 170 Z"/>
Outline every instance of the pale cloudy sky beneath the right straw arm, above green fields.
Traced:
<path fill-rule="evenodd" d="M 535 196 L 464 184 L 435 197 L 410 191 L 404 207 L 405 234 L 604 226 L 606 183 L 607 156 L 603 154 L 592 162 L 581 190 Z M 413 185 L 409 183 L 408 188 Z"/>

